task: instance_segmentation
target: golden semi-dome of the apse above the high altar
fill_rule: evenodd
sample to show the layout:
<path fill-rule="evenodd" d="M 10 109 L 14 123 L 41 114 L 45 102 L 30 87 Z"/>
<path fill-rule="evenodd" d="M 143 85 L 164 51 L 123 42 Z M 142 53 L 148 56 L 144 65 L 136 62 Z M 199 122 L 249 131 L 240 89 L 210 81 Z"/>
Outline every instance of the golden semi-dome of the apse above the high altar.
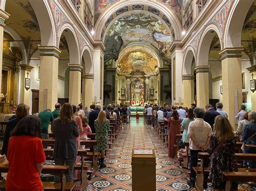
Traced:
<path fill-rule="evenodd" d="M 158 70 L 158 61 L 147 52 L 132 51 L 117 62 L 117 71 L 122 75 L 133 73 L 147 75 L 155 74 Z"/>

